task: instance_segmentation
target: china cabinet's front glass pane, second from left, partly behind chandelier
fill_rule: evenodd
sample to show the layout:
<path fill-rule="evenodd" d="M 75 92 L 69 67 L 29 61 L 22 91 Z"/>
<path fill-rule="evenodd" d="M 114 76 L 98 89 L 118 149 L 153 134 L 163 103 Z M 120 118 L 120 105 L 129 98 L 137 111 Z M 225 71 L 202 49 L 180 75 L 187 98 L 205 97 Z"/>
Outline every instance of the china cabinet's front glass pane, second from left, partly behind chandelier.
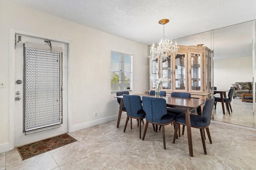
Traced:
<path fill-rule="evenodd" d="M 162 61 L 162 77 L 168 77 L 168 79 L 172 79 L 172 64 L 171 64 L 171 59 L 167 59 Z M 163 83 L 162 87 L 163 89 L 172 89 L 172 83 Z"/>

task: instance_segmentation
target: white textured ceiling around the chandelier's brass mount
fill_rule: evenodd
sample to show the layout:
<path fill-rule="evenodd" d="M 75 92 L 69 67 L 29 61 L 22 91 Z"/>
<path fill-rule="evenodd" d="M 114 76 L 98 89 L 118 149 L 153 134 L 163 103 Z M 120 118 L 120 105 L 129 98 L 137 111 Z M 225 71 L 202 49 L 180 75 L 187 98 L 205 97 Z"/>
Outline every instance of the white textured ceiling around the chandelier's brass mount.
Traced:
<path fill-rule="evenodd" d="M 158 21 L 164 18 L 170 20 L 165 35 L 171 39 L 256 18 L 256 0 L 10 1 L 146 45 L 162 38 L 163 26 Z"/>

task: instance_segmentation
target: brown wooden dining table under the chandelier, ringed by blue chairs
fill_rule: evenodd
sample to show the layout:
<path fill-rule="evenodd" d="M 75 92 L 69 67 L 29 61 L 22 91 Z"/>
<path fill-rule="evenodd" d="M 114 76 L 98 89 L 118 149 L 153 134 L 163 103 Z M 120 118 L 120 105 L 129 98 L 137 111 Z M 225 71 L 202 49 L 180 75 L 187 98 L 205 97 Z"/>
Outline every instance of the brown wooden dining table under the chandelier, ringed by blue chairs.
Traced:
<path fill-rule="evenodd" d="M 141 99 L 142 99 L 142 96 L 155 97 L 154 95 L 146 95 L 146 94 L 134 94 L 134 95 L 139 95 Z M 114 97 L 121 99 L 119 113 L 118 113 L 118 120 L 117 120 L 117 125 L 116 125 L 116 127 L 118 128 L 119 124 L 120 124 L 124 101 L 123 101 L 123 96 L 114 96 Z M 174 108 L 179 108 L 179 109 L 185 110 L 189 154 L 190 154 L 190 156 L 193 156 L 190 111 L 196 109 L 198 115 L 202 115 L 201 105 L 204 104 L 205 99 L 181 98 L 181 97 L 170 97 L 170 96 L 160 96 L 160 97 L 164 98 L 166 100 L 167 107 L 174 107 Z"/>

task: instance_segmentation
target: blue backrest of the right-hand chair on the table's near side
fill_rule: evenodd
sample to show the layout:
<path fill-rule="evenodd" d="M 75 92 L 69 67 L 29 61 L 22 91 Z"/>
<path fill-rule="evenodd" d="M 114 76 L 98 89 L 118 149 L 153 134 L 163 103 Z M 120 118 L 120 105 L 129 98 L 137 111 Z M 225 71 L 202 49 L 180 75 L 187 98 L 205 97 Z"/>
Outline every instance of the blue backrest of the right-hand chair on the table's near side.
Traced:
<path fill-rule="evenodd" d="M 163 98 L 142 96 L 142 108 L 145 118 L 154 123 L 161 123 L 161 119 L 167 114 L 166 100 Z"/>

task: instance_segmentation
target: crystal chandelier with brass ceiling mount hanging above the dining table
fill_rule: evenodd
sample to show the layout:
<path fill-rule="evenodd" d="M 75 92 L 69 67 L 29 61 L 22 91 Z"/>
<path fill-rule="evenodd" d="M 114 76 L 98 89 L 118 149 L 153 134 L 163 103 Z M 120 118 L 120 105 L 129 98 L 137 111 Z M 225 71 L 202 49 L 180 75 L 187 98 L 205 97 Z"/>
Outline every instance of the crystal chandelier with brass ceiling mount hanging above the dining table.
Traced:
<path fill-rule="evenodd" d="M 167 24 L 168 22 L 168 19 L 162 19 L 158 23 L 164 26 L 164 24 Z M 155 47 L 153 42 L 149 57 L 151 57 L 152 60 L 167 60 L 168 58 L 171 59 L 177 55 L 179 48 L 180 47 L 177 46 L 176 41 L 175 44 L 173 44 L 172 40 L 169 40 L 169 38 L 165 38 L 164 36 L 158 43 L 157 47 Z"/>

